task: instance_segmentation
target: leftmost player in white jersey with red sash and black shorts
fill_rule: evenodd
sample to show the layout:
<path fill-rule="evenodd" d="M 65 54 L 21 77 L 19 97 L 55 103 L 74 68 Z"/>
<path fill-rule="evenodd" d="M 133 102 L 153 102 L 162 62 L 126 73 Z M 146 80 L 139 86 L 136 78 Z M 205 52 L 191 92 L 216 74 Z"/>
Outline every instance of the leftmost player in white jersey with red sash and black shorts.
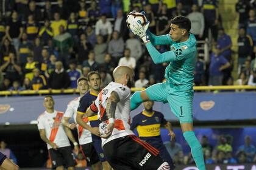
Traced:
<path fill-rule="evenodd" d="M 44 97 L 43 105 L 46 110 L 38 117 L 37 126 L 41 139 L 47 143 L 52 166 L 57 170 L 64 170 L 65 166 L 68 170 L 74 170 L 76 161 L 69 140 L 74 143 L 75 151 L 78 152 L 79 148 L 70 129 L 62 126 L 64 113 L 54 110 L 52 96 Z"/>

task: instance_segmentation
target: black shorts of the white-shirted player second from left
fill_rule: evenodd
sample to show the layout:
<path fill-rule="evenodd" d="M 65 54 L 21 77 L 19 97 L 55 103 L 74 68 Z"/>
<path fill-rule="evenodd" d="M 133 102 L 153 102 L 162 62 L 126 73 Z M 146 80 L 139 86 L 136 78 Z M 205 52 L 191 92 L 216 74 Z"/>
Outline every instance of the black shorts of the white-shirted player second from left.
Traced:
<path fill-rule="evenodd" d="M 81 144 L 80 150 L 82 151 L 84 157 L 87 159 L 88 165 L 93 165 L 99 161 L 98 154 L 92 142 L 87 144 Z"/>

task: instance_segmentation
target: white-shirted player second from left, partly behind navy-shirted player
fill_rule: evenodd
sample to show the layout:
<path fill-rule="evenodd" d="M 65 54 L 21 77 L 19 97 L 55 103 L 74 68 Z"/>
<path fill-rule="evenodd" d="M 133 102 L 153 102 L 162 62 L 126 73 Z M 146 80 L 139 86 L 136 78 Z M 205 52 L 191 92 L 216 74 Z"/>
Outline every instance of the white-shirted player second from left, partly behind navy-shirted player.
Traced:
<path fill-rule="evenodd" d="M 87 129 L 84 129 L 82 126 L 79 126 L 76 122 L 76 114 L 77 107 L 79 106 L 79 100 L 89 89 L 87 78 L 80 77 L 77 80 L 77 89 L 79 90 L 80 97 L 74 98 L 74 100 L 68 103 L 68 106 L 64 114 L 64 118 L 62 119 L 62 123 L 69 129 L 74 129 L 77 127 L 80 151 L 82 151 L 84 157 L 87 158 L 87 165 L 90 165 L 93 168 L 93 170 L 99 170 L 101 169 L 101 162 L 99 161 L 99 157 L 96 151 L 87 152 L 85 151 L 85 149 L 83 150 L 82 148 L 82 146 L 84 146 L 85 144 L 87 144 L 87 146 L 92 145 L 93 140 L 91 138 L 91 132 L 88 131 Z M 71 117 L 74 118 L 75 123 L 69 123 Z M 84 117 L 84 121 L 87 121 L 88 126 L 90 126 L 87 117 Z"/>

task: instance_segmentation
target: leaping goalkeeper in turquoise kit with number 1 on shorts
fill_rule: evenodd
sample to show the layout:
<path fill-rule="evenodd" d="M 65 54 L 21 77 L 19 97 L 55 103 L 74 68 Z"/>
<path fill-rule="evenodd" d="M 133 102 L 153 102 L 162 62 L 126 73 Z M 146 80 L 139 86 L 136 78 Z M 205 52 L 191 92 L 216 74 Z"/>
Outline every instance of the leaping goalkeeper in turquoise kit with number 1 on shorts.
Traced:
<path fill-rule="evenodd" d="M 133 22 L 130 30 L 140 36 L 155 64 L 169 63 L 165 69 L 165 83 L 154 84 L 131 97 L 131 110 L 136 109 L 143 101 L 161 101 L 169 103 L 172 112 L 179 118 L 183 137 L 191 148 L 196 166 L 205 170 L 202 146 L 193 131 L 193 80 L 196 64 L 196 38 L 190 33 L 191 22 L 185 16 L 171 19 L 170 32 L 167 35 L 155 36 L 148 30 L 149 21 L 142 26 Z M 168 52 L 159 53 L 154 46 L 169 44 Z"/>

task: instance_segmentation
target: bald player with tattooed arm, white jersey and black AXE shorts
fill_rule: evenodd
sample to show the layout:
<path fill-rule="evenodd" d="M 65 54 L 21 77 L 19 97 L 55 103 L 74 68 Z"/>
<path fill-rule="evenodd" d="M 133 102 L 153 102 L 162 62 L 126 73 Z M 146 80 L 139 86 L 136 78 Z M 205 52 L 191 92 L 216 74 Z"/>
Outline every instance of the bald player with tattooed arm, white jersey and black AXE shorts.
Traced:
<path fill-rule="evenodd" d="M 118 66 L 113 71 L 115 82 L 101 90 L 87 110 L 102 121 L 99 131 L 104 154 L 113 169 L 170 169 L 159 151 L 141 141 L 130 131 L 130 87 L 134 73 L 130 67 Z"/>

